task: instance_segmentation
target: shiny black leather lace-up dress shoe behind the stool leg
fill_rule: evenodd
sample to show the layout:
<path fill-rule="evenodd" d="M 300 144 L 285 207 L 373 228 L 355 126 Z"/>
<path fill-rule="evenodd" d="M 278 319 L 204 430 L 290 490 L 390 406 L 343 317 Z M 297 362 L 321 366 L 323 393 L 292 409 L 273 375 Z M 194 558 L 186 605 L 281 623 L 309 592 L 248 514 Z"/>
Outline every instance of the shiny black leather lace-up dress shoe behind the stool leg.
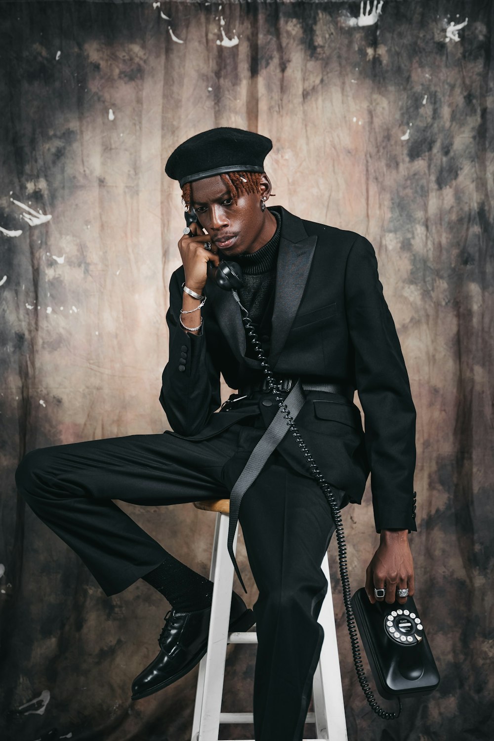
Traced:
<path fill-rule="evenodd" d="M 132 682 L 132 700 L 140 700 L 184 677 L 207 651 L 211 608 L 193 612 L 169 610 L 158 638 L 159 654 Z M 229 631 L 247 631 L 256 619 L 244 600 L 232 593 Z"/>

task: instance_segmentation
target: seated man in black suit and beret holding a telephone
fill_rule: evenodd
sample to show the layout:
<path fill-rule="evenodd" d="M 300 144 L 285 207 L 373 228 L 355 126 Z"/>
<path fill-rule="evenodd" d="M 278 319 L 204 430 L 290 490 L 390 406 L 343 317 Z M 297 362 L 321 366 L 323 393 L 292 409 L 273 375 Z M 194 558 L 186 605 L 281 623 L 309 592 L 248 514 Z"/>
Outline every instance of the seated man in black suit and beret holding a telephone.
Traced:
<path fill-rule="evenodd" d="M 340 508 L 361 501 L 371 473 L 381 542 L 367 568 L 369 599 L 384 592 L 387 602 L 404 602 L 397 590 L 414 592 L 407 536 L 416 530 L 415 408 L 375 253 L 354 232 L 266 207 L 271 147 L 264 136 L 219 127 L 183 142 L 168 159 L 167 174 L 198 218 L 178 242 L 182 265 L 170 280 L 160 402 L 173 432 L 44 448 L 16 471 L 21 494 L 106 594 L 143 578 L 172 605 L 156 659 L 133 682 L 135 700 L 184 676 L 204 655 L 213 585 L 112 498 L 166 505 L 229 496 L 278 412 L 276 396 L 296 379 L 305 395 L 296 426 Z M 276 391 L 265 388 L 231 291 L 208 276 L 207 263 L 221 259 L 241 267 L 238 296 Z M 238 393 L 217 411 L 220 373 Z M 290 431 L 245 492 L 238 517 L 259 597 L 253 615 L 233 593 L 230 629 L 256 621 L 256 740 L 300 741 L 324 637 L 320 565 L 334 523 Z"/>

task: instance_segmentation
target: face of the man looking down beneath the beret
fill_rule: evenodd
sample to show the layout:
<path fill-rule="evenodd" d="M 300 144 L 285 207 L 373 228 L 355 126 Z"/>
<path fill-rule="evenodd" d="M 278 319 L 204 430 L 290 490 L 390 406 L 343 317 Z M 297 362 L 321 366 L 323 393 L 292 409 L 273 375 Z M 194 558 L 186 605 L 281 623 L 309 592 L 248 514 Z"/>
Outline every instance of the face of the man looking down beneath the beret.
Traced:
<path fill-rule="evenodd" d="M 201 227 L 225 258 L 252 252 L 267 241 L 262 242 L 266 219 L 260 193 L 240 192 L 236 204 L 219 175 L 196 180 L 190 190 L 191 205 Z"/>

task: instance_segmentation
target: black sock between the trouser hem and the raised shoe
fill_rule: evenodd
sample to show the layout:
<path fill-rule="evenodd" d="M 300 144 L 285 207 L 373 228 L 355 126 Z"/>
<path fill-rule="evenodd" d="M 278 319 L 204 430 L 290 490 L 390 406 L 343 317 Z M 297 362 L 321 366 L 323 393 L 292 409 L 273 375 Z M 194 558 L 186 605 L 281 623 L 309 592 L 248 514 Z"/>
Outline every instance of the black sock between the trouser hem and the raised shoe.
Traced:
<path fill-rule="evenodd" d="M 164 561 L 142 577 L 180 612 L 204 610 L 213 600 L 213 582 L 167 553 Z"/>

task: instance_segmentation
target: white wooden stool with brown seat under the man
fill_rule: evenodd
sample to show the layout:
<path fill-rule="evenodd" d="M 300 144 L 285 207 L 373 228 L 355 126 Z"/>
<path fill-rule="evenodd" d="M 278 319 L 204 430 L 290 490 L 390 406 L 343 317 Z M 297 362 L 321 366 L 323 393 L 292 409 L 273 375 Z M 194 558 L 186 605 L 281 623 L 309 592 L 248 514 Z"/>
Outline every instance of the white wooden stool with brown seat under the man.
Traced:
<path fill-rule="evenodd" d="M 210 631 L 207 653 L 199 663 L 191 741 L 218 741 L 220 723 L 253 723 L 253 713 L 222 713 L 221 700 L 227 643 L 257 643 L 257 635 L 255 631 L 228 632 L 234 574 L 233 563 L 227 551 L 230 499 L 207 499 L 194 502 L 194 505 L 198 509 L 216 512 L 217 515 L 210 568 L 210 579 L 215 585 Z M 237 538 L 238 523 L 233 539 L 234 553 Z M 327 594 L 318 617 L 318 622 L 324 629 L 324 641 L 313 679 L 314 712 L 307 714 L 306 722 L 316 724 L 318 741 L 347 741 L 330 570 L 326 555 L 321 568 L 327 579 Z"/>

